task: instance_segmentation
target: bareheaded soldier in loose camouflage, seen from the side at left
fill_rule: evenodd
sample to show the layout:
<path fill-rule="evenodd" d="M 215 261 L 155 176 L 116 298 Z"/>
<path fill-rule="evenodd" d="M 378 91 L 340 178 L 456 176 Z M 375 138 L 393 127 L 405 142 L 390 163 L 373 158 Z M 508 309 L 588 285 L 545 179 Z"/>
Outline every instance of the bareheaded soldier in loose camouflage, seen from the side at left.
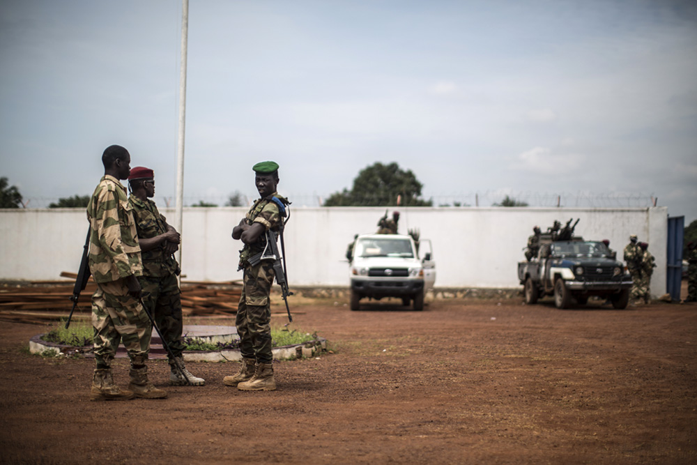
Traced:
<path fill-rule="evenodd" d="M 97 283 L 92 296 L 97 368 L 91 399 L 167 397 L 167 392 L 148 380 L 145 365 L 152 326 L 139 302 L 137 277 L 143 270 L 140 247 L 126 190 L 119 182 L 130 173 L 130 154 L 122 146 L 109 146 L 102 154 L 102 164 L 104 176 L 87 206 L 91 226 L 89 267 Z M 123 342 L 131 363 L 128 390 L 118 388 L 112 376 L 111 363 L 119 342 Z"/>

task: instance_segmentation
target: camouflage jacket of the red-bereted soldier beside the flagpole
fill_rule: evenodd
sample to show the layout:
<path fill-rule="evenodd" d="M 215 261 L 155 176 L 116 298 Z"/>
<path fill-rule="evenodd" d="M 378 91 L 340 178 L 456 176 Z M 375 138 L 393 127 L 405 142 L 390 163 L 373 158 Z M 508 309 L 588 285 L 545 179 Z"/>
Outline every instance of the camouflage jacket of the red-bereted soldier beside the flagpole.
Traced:
<path fill-rule="evenodd" d="M 145 201 L 135 195 L 128 197 L 128 203 L 133 208 L 133 218 L 138 237 L 153 238 L 167 232 L 167 218 L 160 213 L 155 202 Z M 171 254 L 164 253 L 164 246 L 158 245 L 151 250 L 141 250 L 143 258 L 143 274 L 146 276 L 167 276 L 179 273 L 179 265 Z"/>

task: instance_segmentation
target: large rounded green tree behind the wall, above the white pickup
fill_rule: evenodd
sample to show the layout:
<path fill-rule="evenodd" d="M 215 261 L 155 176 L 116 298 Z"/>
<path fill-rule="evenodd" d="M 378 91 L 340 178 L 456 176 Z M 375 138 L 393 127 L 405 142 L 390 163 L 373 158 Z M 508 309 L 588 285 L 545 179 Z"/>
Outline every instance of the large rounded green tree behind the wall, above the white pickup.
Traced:
<path fill-rule="evenodd" d="M 431 206 L 433 201 L 423 200 L 422 183 L 411 170 L 404 171 L 396 162 L 383 165 L 380 162 L 365 167 L 353 179 L 353 188 L 335 192 L 324 206 Z"/>

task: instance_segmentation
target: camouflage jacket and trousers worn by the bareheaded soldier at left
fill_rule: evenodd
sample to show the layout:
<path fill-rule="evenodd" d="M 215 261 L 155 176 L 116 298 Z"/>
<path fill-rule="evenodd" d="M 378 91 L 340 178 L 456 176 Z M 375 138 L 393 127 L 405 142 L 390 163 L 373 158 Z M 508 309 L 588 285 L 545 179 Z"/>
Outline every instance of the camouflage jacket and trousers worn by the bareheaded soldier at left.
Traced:
<path fill-rule="evenodd" d="M 131 361 L 142 365 L 150 351 L 152 326 L 139 301 L 128 294 L 125 279 L 142 275 L 135 220 L 126 190 L 105 175 L 87 206 L 91 226 L 89 267 L 97 282 L 92 296 L 94 355 L 108 368 L 123 342 Z"/>

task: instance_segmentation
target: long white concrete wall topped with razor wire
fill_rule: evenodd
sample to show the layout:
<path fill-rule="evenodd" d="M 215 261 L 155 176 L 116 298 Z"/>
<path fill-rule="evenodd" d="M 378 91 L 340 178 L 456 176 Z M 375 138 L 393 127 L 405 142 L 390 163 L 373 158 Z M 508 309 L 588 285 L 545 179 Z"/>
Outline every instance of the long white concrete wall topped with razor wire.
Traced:
<path fill-rule="evenodd" d="M 185 208 L 183 273 L 188 280 L 239 279 L 239 241 L 231 231 L 247 208 Z M 391 213 L 392 209 L 390 209 Z M 666 207 L 656 208 L 399 208 L 399 232 L 416 228 L 434 246 L 436 287 L 518 287 L 516 263 L 536 224 L 580 218 L 576 235 L 609 239 L 622 259 L 629 234 L 648 242 L 658 268 L 652 294 L 666 291 Z M 162 213 L 174 219 L 172 209 Z M 346 245 L 376 230 L 385 208 L 293 208 L 286 227 L 289 281 L 346 286 Z M 0 279 L 55 280 L 77 271 L 88 223 L 82 209 L 0 211 Z"/>

